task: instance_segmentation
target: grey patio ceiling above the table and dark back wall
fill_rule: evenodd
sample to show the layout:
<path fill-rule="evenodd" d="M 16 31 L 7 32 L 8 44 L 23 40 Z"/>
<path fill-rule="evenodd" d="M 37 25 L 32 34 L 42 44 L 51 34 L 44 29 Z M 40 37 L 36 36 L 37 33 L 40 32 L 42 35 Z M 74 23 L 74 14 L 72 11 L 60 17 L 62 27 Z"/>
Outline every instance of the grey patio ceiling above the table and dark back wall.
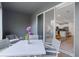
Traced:
<path fill-rule="evenodd" d="M 59 2 L 2 2 L 2 7 L 7 10 L 33 14 L 43 8 L 50 8 Z"/>

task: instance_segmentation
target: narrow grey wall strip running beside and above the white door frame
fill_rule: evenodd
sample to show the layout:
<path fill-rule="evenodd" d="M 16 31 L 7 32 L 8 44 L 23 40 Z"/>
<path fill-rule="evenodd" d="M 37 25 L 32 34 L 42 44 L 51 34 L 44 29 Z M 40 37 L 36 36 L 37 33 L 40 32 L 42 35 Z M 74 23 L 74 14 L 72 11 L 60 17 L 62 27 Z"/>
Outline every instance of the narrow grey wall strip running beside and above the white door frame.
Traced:
<path fill-rule="evenodd" d="M 32 25 L 32 32 L 33 32 L 34 34 L 37 34 L 36 15 L 37 15 L 38 13 L 41 13 L 41 12 L 43 12 L 43 11 L 45 11 L 45 10 L 47 10 L 47 9 L 49 9 L 49 8 L 51 8 L 51 7 L 55 6 L 55 5 L 57 5 L 57 4 L 59 4 L 59 3 L 60 3 L 60 2 L 55 2 L 55 3 L 52 3 L 52 4 L 46 5 L 46 7 L 42 8 L 42 9 L 39 9 L 38 11 L 36 11 L 36 12 L 32 15 L 32 17 L 31 17 L 31 20 L 32 20 L 31 25 Z"/>

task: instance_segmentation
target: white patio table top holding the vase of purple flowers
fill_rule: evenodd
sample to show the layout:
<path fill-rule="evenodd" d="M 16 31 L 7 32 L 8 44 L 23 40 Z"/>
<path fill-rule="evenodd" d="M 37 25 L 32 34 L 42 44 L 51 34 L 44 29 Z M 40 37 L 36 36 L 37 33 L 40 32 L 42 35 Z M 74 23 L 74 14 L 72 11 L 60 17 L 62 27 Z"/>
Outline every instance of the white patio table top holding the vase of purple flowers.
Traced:
<path fill-rule="evenodd" d="M 0 56 L 37 56 L 46 54 L 42 40 L 21 40 L 12 46 L 0 51 Z"/>

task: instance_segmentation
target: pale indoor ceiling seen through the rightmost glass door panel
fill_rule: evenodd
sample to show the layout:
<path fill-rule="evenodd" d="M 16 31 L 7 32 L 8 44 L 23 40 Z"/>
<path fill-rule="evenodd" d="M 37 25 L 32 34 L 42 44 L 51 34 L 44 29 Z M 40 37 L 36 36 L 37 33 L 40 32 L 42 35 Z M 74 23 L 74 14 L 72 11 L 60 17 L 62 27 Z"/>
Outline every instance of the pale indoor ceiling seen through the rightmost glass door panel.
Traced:
<path fill-rule="evenodd" d="M 74 22 L 74 4 L 70 4 L 68 6 L 65 6 L 59 9 L 57 8 L 56 9 L 56 21 L 59 23 Z"/>

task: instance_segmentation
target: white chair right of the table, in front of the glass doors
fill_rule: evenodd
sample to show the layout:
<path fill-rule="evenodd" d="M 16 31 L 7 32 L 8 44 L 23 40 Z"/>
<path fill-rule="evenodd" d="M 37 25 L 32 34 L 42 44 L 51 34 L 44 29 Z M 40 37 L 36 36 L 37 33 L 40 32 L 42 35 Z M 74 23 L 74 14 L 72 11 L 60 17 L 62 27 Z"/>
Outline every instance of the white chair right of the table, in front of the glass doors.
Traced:
<path fill-rule="evenodd" d="M 52 56 L 57 57 L 60 49 L 60 44 L 61 41 L 57 40 L 57 39 L 53 39 L 51 44 L 45 44 L 45 49 L 46 49 L 46 53 L 51 54 Z"/>

